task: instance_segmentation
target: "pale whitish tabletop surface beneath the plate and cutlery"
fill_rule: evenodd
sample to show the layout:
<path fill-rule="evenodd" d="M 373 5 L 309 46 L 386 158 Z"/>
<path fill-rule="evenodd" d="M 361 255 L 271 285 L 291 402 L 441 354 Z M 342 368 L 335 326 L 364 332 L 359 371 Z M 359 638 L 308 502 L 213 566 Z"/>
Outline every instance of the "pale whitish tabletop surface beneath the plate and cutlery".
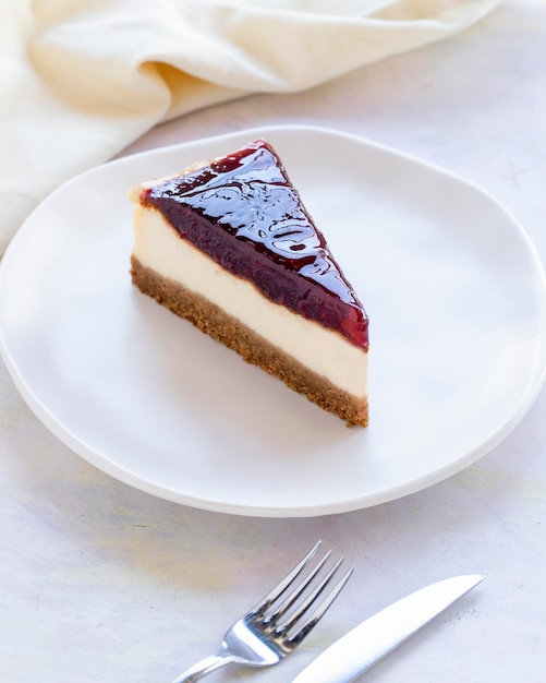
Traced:
<path fill-rule="evenodd" d="M 300 95 L 207 109 L 132 151 L 282 122 L 354 132 L 482 184 L 521 219 L 545 262 L 545 5 L 509 2 L 448 41 Z M 365 680 L 541 683 L 545 409 L 543 391 L 494 452 L 421 493 L 343 515 L 255 519 L 182 507 L 98 472 L 34 418 L 2 367 L 0 680 L 169 682 L 323 538 L 356 567 L 339 603 L 280 667 L 211 682 L 286 683 L 374 610 L 475 572 L 485 576 L 480 587 Z"/>

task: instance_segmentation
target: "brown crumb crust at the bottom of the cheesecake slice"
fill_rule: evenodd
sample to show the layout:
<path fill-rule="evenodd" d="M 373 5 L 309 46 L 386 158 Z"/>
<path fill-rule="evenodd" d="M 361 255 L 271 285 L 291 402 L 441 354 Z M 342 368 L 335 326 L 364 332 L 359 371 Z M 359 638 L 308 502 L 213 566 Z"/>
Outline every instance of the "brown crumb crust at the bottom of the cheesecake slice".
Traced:
<path fill-rule="evenodd" d="M 144 266 L 134 255 L 131 256 L 131 277 L 143 293 L 236 351 L 246 362 L 345 420 L 348 427 L 367 426 L 367 399 L 359 399 L 333 386 L 201 295 Z"/>

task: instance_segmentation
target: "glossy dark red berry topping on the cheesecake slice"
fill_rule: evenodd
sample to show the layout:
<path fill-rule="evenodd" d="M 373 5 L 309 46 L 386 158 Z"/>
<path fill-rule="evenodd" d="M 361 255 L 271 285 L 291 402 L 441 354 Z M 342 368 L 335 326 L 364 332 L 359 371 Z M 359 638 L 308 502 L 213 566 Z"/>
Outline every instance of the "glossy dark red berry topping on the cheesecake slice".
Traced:
<path fill-rule="evenodd" d="M 367 348 L 364 309 L 267 142 L 162 180 L 142 201 L 271 301 Z"/>

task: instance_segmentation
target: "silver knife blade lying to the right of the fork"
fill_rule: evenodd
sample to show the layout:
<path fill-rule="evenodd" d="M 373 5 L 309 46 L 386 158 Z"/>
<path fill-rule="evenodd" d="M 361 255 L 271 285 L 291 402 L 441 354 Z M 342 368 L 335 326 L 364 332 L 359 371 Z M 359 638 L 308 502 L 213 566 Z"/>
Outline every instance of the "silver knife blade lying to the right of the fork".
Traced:
<path fill-rule="evenodd" d="M 337 640 L 292 683 L 351 683 L 482 579 L 454 576 L 412 592 Z"/>

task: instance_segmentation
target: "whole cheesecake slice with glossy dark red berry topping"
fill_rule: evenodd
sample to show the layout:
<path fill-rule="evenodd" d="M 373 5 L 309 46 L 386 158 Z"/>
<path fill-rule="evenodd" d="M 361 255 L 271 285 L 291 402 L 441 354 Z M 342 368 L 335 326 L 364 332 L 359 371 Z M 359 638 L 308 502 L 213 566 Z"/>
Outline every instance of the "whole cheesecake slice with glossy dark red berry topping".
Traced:
<path fill-rule="evenodd" d="M 367 315 L 269 143 L 130 199 L 142 292 L 348 426 L 367 424 Z"/>

